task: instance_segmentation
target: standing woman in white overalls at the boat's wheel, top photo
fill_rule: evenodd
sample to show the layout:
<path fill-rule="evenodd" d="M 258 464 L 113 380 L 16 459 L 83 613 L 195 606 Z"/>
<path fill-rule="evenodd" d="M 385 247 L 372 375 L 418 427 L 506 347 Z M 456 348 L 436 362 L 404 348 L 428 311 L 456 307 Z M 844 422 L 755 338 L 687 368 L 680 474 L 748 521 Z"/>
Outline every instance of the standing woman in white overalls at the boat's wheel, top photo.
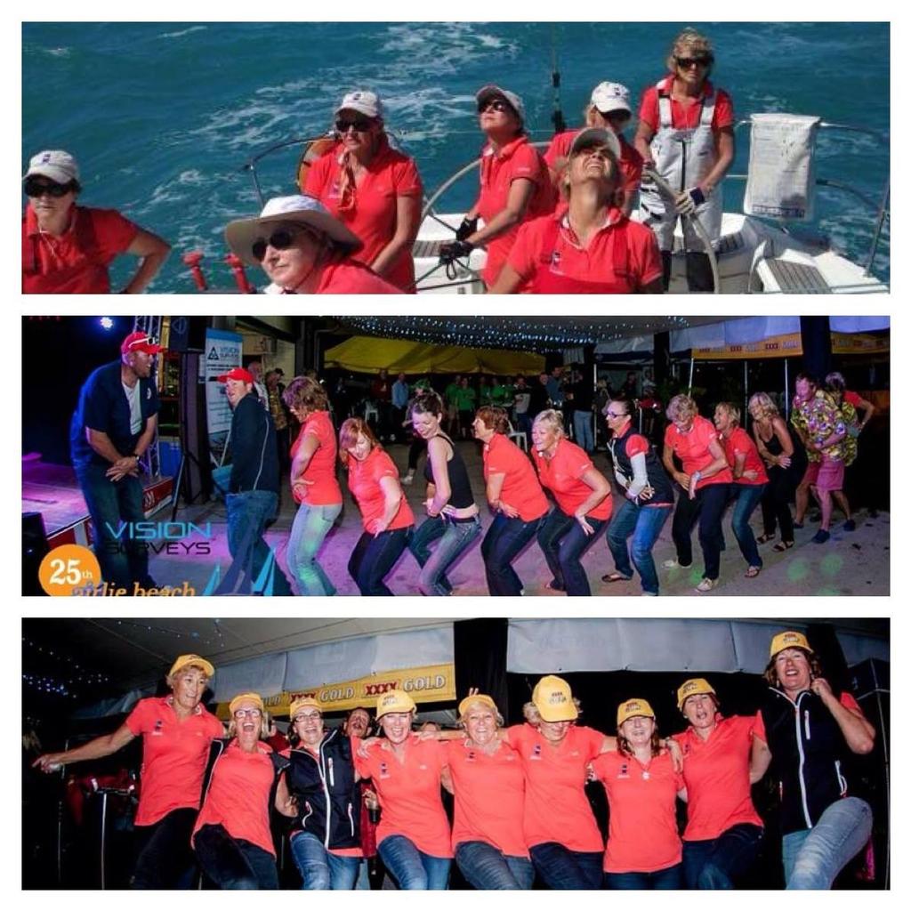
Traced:
<path fill-rule="evenodd" d="M 676 191 L 671 202 L 651 181 L 640 188 L 642 222 L 655 232 L 670 283 L 670 251 L 680 215 L 695 215 L 712 244 L 722 231 L 721 182 L 734 159 L 731 97 L 709 81 L 715 62 L 709 39 L 691 28 L 674 39 L 667 76 L 646 89 L 639 110 L 635 146 L 646 169 L 656 170 Z M 702 241 L 683 221 L 687 284 L 691 292 L 712 292 L 714 281 Z"/>

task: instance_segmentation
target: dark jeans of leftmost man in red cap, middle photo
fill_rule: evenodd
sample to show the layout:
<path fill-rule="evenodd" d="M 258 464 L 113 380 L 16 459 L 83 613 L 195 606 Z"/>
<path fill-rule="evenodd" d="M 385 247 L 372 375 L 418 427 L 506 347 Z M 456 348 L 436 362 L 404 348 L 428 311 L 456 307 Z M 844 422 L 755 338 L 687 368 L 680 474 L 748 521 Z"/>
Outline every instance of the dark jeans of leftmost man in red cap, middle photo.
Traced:
<path fill-rule="evenodd" d="M 101 567 L 101 578 L 133 593 L 133 584 L 152 588 L 155 583 L 148 576 L 148 547 L 144 541 L 130 539 L 128 533 L 121 537 L 111 534 L 121 522 L 145 522 L 142 509 L 142 483 L 138 477 L 123 477 L 112 481 L 105 476 L 110 466 L 87 465 L 77 468 L 76 476 L 92 517 L 92 534 L 95 538 L 95 556 Z"/>

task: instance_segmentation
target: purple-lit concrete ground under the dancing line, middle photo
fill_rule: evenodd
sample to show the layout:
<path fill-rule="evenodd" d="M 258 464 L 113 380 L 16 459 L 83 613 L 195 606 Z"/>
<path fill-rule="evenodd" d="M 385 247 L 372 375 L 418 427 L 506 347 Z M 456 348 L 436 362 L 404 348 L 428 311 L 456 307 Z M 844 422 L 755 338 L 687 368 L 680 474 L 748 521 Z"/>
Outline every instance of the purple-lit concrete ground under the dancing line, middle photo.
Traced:
<path fill-rule="evenodd" d="M 484 496 L 480 445 L 475 442 L 459 443 L 459 449 L 466 460 L 471 477 L 476 502 L 481 505 L 482 521 L 489 527 L 489 513 Z M 390 445 L 390 455 L 399 466 L 404 476 L 408 447 Z M 607 476 L 611 476 L 609 456 L 598 453 L 595 465 Z M 421 472 L 424 467 L 424 456 L 418 465 L 418 475 L 411 486 L 405 486 L 415 517 L 418 522 L 425 516 L 424 481 Z M 348 575 L 347 564 L 357 538 L 360 537 L 361 517 L 357 507 L 347 493 L 344 478 L 342 487 L 345 503 L 342 517 L 329 537 L 326 538 L 320 551 L 320 562 L 333 580 L 340 595 L 357 595 L 358 590 L 353 579 Z M 285 491 L 287 491 L 287 484 Z M 267 532 L 267 542 L 275 549 L 282 568 L 286 568 L 288 534 L 291 529 L 295 506 L 291 496 L 282 495 L 282 508 L 279 520 Z M 773 551 L 773 543 L 760 546 L 763 558 L 763 571 L 756 578 L 744 578 L 746 563 L 731 530 L 730 509 L 724 518 L 724 536 L 727 548 L 722 553 L 720 584 L 711 593 L 701 595 L 694 587 L 701 579 L 701 553 L 698 541 L 694 539 L 695 561 L 691 568 L 661 568 L 664 560 L 673 558 L 675 551 L 670 539 L 670 518 L 661 531 L 654 548 L 656 564 L 659 567 L 659 578 L 662 595 L 686 595 L 711 598 L 720 595 L 753 595 L 770 597 L 775 595 L 888 595 L 889 593 L 889 515 L 879 512 L 868 514 L 865 510 L 855 515 L 857 528 L 854 532 L 842 529 L 844 517 L 835 513 L 831 539 L 824 545 L 814 544 L 811 538 L 816 532 L 816 525 L 808 522 L 805 527 L 795 531 L 794 547 L 779 554 Z M 222 503 L 205 506 L 181 508 L 178 519 L 185 522 L 211 523 L 213 540 L 211 554 L 202 556 L 165 555 L 153 556 L 150 560 L 151 574 L 159 585 L 180 586 L 184 580 L 201 594 L 209 581 L 216 563 L 220 564 L 222 576 L 230 566 L 230 554 L 225 537 L 225 507 Z M 762 517 L 757 509 L 753 514 L 752 527 L 757 536 L 762 534 Z M 694 531 L 694 538 L 696 532 Z M 486 596 L 484 564 L 481 559 L 480 538 L 478 544 L 472 545 L 468 552 L 449 572 L 450 581 L 455 587 L 455 596 Z M 172 550 L 174 548 L 171 548 Z M 583 558 L 583 566 L 589 574 L 592 594 L 598 596 L 640 595 L 638 577 L 630 582 L 601 582 L 601 576 L 613 570 L 613 560 L 602 536 Z M 525 593 L 564 597 L 546 589 L 550 580 L 547 564 L 537 544 L 532 542 L 514 564 L 518 575 L 525 584 Z M 386 579 L 386 584 L 396 595 L 415 595 L 417 564 L 415 559 L 405 551 L 396 564 L 393 573 Z"/>

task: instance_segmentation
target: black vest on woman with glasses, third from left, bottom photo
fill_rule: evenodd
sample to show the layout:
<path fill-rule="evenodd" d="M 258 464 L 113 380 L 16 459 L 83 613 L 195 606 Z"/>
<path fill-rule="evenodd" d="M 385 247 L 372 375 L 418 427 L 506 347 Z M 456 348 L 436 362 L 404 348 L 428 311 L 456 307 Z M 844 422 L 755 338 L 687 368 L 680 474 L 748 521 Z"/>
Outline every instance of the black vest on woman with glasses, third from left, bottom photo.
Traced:
<path fill-rule="evenodd" d="M 314 834 L 326 848 L 361 846 L 361 797 L 351 740 L 340 729 L 322 738 L 319 756 L 302 747 L 292 750 L 285 781 L 297 798 L 292 832 Z"/>

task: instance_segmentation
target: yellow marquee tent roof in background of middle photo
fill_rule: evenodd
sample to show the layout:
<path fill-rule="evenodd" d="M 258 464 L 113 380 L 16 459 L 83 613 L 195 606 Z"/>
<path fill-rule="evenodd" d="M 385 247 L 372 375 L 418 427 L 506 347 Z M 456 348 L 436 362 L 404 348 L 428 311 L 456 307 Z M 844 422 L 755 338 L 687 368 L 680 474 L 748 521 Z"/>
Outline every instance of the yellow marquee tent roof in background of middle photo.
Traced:
<path fill-rule="evenodd" d="M 326 367 L 373 374 L 385 367 L 390 374 L 539 374 L 544 356 L 494 348 L 455 348 L 355 335 L 324 355 Z"/>

